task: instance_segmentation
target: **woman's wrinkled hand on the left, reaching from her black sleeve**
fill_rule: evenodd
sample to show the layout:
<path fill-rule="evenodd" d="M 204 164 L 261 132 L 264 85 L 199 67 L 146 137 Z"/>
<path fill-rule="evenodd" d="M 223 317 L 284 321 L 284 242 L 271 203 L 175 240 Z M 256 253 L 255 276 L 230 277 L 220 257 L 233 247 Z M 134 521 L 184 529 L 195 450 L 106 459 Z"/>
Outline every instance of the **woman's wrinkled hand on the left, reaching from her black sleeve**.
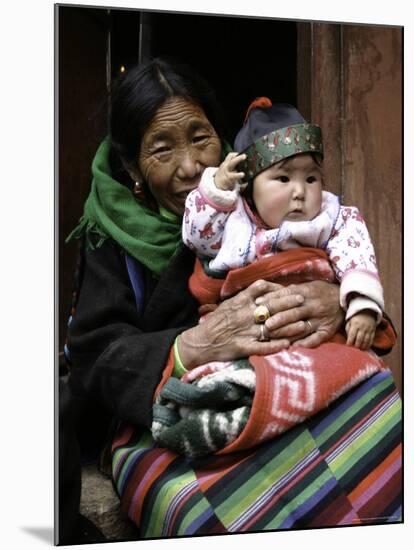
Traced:
<path fill-rule="evenodd" d="M 255 324 L 255 300 L 282 288 L 281 285 L 259 280 L 236 296 L 222 302 L 203 321 L 178 339 L 181 361 L 190 370 L 210 361 L 231 361 L 249 355 L 268 355 L 289 347 L 287 338 L 259 341 L 260 325 Z M 272 307 L 272 315 L 300 306 L 300 294 L 281 296 Z"/>

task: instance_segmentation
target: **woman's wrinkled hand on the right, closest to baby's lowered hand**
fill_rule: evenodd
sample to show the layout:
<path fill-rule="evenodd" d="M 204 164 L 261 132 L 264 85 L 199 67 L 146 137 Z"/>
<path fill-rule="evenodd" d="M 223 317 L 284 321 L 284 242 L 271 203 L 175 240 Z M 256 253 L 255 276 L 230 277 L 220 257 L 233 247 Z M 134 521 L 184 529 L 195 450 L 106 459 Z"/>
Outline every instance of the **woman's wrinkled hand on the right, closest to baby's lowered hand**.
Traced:
<path fill-rule="evenodd" d="M 328 341 L 344 323 L 344 311 L 339 305 L 339 286 L 325 281 L 290 285 L 263 294 L 256 303 L 273 307 L 285 295 L 301 295 L 298 307 L 286 309 L 266 321 L 270 338 L 289 338 L 293 345 L 308 348 Z"/>

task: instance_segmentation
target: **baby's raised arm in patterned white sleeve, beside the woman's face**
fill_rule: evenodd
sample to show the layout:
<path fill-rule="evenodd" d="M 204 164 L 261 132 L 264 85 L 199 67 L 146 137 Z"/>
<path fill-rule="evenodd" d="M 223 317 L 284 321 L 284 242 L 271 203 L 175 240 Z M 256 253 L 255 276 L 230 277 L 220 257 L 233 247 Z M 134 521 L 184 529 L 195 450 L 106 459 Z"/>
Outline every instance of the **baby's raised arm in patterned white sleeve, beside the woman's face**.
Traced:
<path fill-rule="evenodd" d="M 200 256 L 214 258 L 221 247 L 227 218 L 239 198 L 235 168 L 245 155 L 229 153 L 219 168 L 206 168 L 200 184 L 187 196 L 182 226 L 183 242 Z"/>

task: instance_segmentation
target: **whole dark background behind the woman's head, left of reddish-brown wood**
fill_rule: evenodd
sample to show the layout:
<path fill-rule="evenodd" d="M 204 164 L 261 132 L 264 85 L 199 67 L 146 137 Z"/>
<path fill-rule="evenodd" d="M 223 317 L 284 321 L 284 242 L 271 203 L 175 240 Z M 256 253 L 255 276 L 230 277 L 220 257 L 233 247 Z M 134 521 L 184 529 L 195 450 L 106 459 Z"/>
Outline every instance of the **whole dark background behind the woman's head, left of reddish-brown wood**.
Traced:
<path fill-rule="evenodd" d="M 61 352 L 77 257 L 77 243 L 64 241 L 89 192 L 91 161 L 106 133 L 105 100 L 112 80 L 147 57 L 168 55 L 189 63 L 216 90 L 232 141 L 255 97 L 296 104 L 297 26 L 272 19 L 72 6 L 57 6 L 56 15 Z"/>

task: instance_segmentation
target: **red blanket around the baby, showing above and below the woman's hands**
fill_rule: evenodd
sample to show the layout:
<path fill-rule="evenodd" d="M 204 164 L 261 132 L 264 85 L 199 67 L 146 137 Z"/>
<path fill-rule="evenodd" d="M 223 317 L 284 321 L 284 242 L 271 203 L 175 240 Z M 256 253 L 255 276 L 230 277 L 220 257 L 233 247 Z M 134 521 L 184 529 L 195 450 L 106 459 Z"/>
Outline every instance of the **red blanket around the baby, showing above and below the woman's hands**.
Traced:
<path fill-rule="evenodd" d="M 208 277 L 198 263 L 190 288 L 204 307 L 234 295 L 257 279 L 279 284 L 312 280 L 333 281 L 334 274 L 324 252 L 300 248 L 257 261 L 230 272 L 225 279 Z M 374 348 L 386 352 L 395 343 L 391 325 L 383 320 L 378 326 Z M 291 347 L 277 354 L 249 357 L 256 375 L 251 412 L 241 433 L 218 451 L 230 453 L 254 447 L 327 407 L 340 395 L 386 368 L 372 351 L 363 352 L 345 345 L 344 333 L 314 349 Z M 172 370 L 169 360 L 163 385 Z M 225 365 L 211 363 L 190 371 L 184 382 L 211 376 Z"/>

